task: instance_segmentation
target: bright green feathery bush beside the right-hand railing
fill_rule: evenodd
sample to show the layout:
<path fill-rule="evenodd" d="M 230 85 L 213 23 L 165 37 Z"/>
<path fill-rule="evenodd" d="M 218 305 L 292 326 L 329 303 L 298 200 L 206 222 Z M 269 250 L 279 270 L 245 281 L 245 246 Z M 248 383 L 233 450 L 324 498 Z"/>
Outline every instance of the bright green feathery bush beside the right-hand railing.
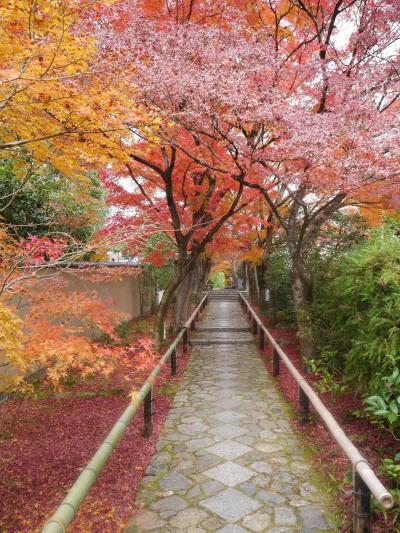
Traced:
<path fill-rule="evenodd" d="M 314 321 L 322 360 L 353 389 L 380 395 L 400 365 L 400 238 L 392 227 L 321 274 Z"/>

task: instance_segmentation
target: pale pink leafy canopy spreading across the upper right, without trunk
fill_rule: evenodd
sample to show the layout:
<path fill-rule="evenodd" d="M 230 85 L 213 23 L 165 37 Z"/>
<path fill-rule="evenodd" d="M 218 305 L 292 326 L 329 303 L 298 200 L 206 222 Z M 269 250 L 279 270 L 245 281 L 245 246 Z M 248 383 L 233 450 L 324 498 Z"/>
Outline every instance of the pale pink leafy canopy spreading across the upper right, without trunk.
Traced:
<path fill-rule="evenodd" d="M 336 3 L 325 4 L 331 13 Z M 398 38 L 395 26 L 389 31 L 391 21 L 398 21 L 393 1 L 379 8 L 368 4 L 353 11 L 343 6 L 344 21 L 359 9 L 367 26 L 361 32 L 361 22 L 353 21 L 347 46 L 333 39 L 313 43 L 301 47 L 301 56 L 289 41 L 276 49 L 263 28 L 245 34 L 240 20 L 231 20 L 229 27 L 151 20 L 134 0 L 110 7 L 97 37 L 105 68 L 115 68 L 109 56 L 135 64 L 132 83 L 146 108 L 204 142 L 216 140 L 234 151 L 236 165 L 252 180 L 275 175 L 291 186 L 302 182 L 311 190 L 346 194 L 379 184 L 380 192 L 397 194 L 392 178 L 398 176 L 398 117 L 395 107 L 386 110 L 383 104 L 390 101 L 389 86 L 398 91 L 398 76 L 396 82 L 396 67 L 376 47 L 379 42 L 384 49 Z M 120 19 L 123 28 L 113 25 Z M 297 38 L 307 37 L 307 31 Z M 379 91 L 382 84 L 385 93 Z M 316 112 L 325 86 L 325 112 Z M 141 128 L 134 116 L 131 125 Z M 163 134 L 179 146 L 180 132 Z"/>

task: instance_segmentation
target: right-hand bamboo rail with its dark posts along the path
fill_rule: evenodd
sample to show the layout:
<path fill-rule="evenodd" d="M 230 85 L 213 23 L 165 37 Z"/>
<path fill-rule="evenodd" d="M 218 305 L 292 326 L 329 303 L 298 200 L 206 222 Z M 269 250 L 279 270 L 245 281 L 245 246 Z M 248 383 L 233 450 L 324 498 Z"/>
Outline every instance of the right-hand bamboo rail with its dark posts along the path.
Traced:
<path fill-rule="evenodd" d="M 280 360 L 292 374 L 299 386 L 299 403 L 301 419 L 303 423 L 309 420 L 310 403 L 318 413 L 330 434 L 339 444 L 347 458 L 353 466 L 353 530 L 355 533 L 366 533 L 370 531 L 371 519 L 371 494 L 375 496 L 384 509 L 393 507 L 393 497 L 379 481 L 368 461 L 361 455 L 351 440 L 347 437 L 343 429 L 336 422 L 333 415 L 319 399 L 312 387 L 307 383 L 286 353 L 282 350 L 268 329 L 261 322 L 251 304 L 240 292 L 241 303 L 247 311 L 249 319 L 252 320 L 252 330 L 255 335 L 259 333 L 259 346 L 263 350 L 265 337 L 268 339 L 273 349 L 273 374 L 279 375 Z"/>

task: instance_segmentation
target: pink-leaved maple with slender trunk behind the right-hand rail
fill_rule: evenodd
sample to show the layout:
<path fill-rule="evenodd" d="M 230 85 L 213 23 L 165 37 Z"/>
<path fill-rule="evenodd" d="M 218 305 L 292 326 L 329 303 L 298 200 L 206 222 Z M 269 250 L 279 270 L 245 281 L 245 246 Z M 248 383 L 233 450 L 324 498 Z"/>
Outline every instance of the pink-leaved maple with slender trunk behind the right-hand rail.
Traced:
<path fill-rule="evenodd" d="M 234 69 L 224 71 L 225 58 L 217 48 L 213 52 L 208 50 L 207 70 L 202 70 L 199 64 L 204 61 L 205 43 L 199 50 L 196 37 L 190 39 L 185 32 L 185 45 L 179 47 L 183 57 L 178 58 L 176 52 L 166 52 L 164 47 L 162 57 L 157 57 L 157 67 L 162 64 L 165 69 L 171 69 L 163 72 L 163 79 L 168 83 L 173 78 L 173 68 L 181 59 L 182 69 L 178 70 L 184 68 L 186 75 L 182 90 L 191 95 L 191 101 L 187 102 L 183 92 L 175 89 L 173 116 L 178 115 L 181 121 L 193 125 L 195 120 L 201 120 L 202 114 L 210 113 L 212 95 L 214 138 L 222 133 L 227 149 L 244 155 L 253 166 L 246 185 L 263 194 L 288 235 L 302 353 L 309 357 L 312 354 L 309 316 L 312 280 L 304 263 L 307 248 L 326 220 L 340 207 L 358 205 L 370 200 L 372 195 L 377 202 L 385 195 L 395 199 L 398 194 L 397 68 L 393 58 L 388 59 L 382 53 L 398 39 L 398 24 L 396 26 L 392 2 L 377 12 L 368 4 L 354 5 L 353 2 L 327 2 L 321 12 L 312 2 L 288 5 L 291 8 L 288 16 L 295 11 L 302 21 L 300 31 L 298 35 L 283 32 L 277 39 L 279 31 L 275 27 L 269 44 L 269 52 L 275 56 L 270 57 L 272 68 L 256 71 L 255 75 L 251 63 L 242 59 Z M 359 19 L 348 47 L 341 50 L 333 37 L 338 19 L 346 20 L 346 11 L 349 17 L 358 15 Z M 384 12 L 385 20 L 382 19 Z M 282 18 L 278 17 L 279 24 Z M 391 27 L 389 20 L 392 20 Z M 272 21 L 276 26 L 275 17 Z M 209 30 L 196 31 L 210 37 Z M 215 39 L 215 35 L 213 37 Z M 229 42 L 229 34 L 225 37 L 226 49 L 232 52 L 234 43 Z M 263 47 L 268 46 L 265 39 L 261 42 Z M 253 46 L 258 51 L 260 68 L 260 63 L 264 65 L 266 59 L 261 61 L 265 50 L 259 50 L 258 44 L 253 43 Z M 194 60 L 186 50 L 190 50 Z M 168 61 L 172 55 L 173 63 Z M 236 50 L 233 55 L 240 57 Z M 220 78 L 210 73 L 210 57 L 214 72 L 218 72 Z M 383 77 L 382 64 L 387 66 Z M 151 74 L 155 76 L 156 73 Z M 163 79 L 158 81 L 163 83 Z M 217 85 L 218 79 L 223 79 L 223 87 Z M 258 86 L 249 88 L 249 80 L 257 80 Z M 229 82 L 232 82 L 231 90 Z M 201 87 L 201 91 L 194 87 Z M 246 99 L 238 89 L 246 92 Z M 158 84 L 154 90 L 162 89 Z M 171 90 L 167 94 L 171 99 Z M 198 97 L 194 102 L 193 94 Z"/>

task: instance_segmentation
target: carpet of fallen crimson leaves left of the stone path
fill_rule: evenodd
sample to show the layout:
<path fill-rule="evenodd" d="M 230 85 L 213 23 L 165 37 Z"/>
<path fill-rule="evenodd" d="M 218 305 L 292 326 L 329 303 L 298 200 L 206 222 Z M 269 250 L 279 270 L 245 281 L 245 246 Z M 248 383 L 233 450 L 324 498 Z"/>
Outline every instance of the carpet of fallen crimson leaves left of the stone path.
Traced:
<path fill-rule="evenodd" d="M 161 387 L 174 387 L 181 380 L 188 358 L 187 353 L 179 354 L 174 378 L 168 365 L 162 369 L 154 385 L 152 437 L 142 436 L 140 410 L 85 499 L 74 520 L 74 531 L 117 533 L 126 526 L 134 512 L 140 479 L 171 407 L 172 396 Z M 137 370 L 131 382 L 137 386 L 143 383 L 149 373 L 148 363 L 133 359 Z M 1 531 L 40 531 L 127 403 L 126 380 L 114 375 L 106 385 L 101 380 L 78 383 L 58 397 L 22 404 L 11 400 L 0 406 Z M 12 433 L 9 439 L 4 438 L 7 431 Z"/>

